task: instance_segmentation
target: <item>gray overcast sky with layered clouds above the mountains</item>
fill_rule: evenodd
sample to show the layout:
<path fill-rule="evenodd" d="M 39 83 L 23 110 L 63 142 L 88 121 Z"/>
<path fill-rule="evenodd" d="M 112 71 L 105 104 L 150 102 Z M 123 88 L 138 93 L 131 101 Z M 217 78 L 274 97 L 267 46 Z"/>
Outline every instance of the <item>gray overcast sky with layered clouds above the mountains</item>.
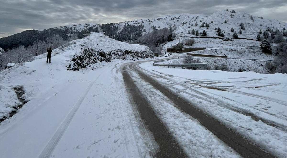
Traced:
<path fill-rule="evenodd" d="M 71 23 L 111 23 L 221 9 L 287 22 L 287 0 L 0 0 L 0 38 L 26 29 Z"/>

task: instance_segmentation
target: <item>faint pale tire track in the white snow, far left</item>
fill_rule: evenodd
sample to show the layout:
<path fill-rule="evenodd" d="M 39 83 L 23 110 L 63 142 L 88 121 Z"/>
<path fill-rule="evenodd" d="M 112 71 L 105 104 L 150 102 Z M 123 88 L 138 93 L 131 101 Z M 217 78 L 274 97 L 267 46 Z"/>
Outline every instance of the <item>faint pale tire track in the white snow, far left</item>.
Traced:
<path fill-rule="evenodd" d="M 106 68 L 107 69 L 107 68 Z M 106 70 L 104 69 L 104 70 Z M 102 70 L 102 72 L 104 71 Z M 70 122 L 72 121 L 73 117 L 75 116 L 75 113 L 81 106 L 83 100 L 86 98 L 88 92 L 91 90 L 92 86 L 96 82 L 96 80 L 102 75 L 102 72 L 98 75 L 98 77 L 92 81 L 89 86 L 87 87 L 85 93 L 79 98 L 79 100 L 75 103 L 73 108 L 70 110 L 68 115 L 65 117 L 64 121 L 61 123 L 61 125 L 58 127 L 57 131 L 53 135 L 53 137 L 49 140 L 47 145 L 44 147 L 38 158 L 49 158 L 51 154 L 53 153 L 54 149 L 56 148 L 57 144 L 61 140 L 62 136 L 64 135 L 66 129 L 68 128 Z"/>

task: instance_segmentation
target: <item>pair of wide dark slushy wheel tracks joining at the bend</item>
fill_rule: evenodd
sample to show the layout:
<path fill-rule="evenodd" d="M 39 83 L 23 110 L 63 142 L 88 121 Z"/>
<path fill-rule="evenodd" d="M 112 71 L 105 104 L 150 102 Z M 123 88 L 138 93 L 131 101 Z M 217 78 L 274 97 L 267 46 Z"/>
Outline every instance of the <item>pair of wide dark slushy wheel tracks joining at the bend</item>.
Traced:
<path fill-rule="evenodd" d="M 170 133 L 168 133 L 168 131 L 166 130 L 166 127 L 164 127 L 164 125 L 152 111 L 152 108 L 145 99 L 144 95 L 141 94 L 141 92 L 139 91 L 138 87 L 135 84 L 135 82 L 138 81 L 135 81 L 133 79 L 131 75 L 132 73 L 136 73 L 140 76 L 141 80 L 148 82 L 150 85 L 153 86 L 153 88 L 162 92 L 166 97 L 172 100 L 172 102 L 176 104 L 182 112 L 186 112 L 193 118 L 197 119 L 201 123 L 201 125 L 203 125 L 209 131 L 212 131 L 214 135 L 216 135 L 220 140 L 222 140 L 229 147 L 234 149 L 241 156 L 252 158 L 275 157 L 270 153 L 265 152 L 262 147 L 260 147 L 260 145 L 257 145 L 254 142 L 247 140 L 240 134 L 235 133 L 234 131 L 232 131 L 232 129 L 222 124 L 216 118 L 213 118 L 208 113 L 196 108 L 189 101 L 180 97 L 168 87 L 160 84 L 157 80 L 154 79 L 154 77 L 156 76 L 157 78 L 164 78 L 164 76 L 154 74 L 140 68 L 139 64 L 143 62 L 132 62 L 123 64 L 121 68 L 119 68 L 119 70 L 121 70 L 123 74 L 126 88 L 131 94 L 131 100 L 133 100 L 133 102 L 136 104 L 141 114 L 141 118 L 148 126 L 148 129 L 153 133 L 156 142 L 160 145 L 158 157 L 178 157 L 177 154 L 181 150 L 178 150 L 180 148 L 178 145 L 171 145 L 170 142 L 173 142 L 174 139 L 172 139 Z M 162 151 L 166 154 L 163 155 Z M 174 153 L 176 154 L 174 155 Z"/>

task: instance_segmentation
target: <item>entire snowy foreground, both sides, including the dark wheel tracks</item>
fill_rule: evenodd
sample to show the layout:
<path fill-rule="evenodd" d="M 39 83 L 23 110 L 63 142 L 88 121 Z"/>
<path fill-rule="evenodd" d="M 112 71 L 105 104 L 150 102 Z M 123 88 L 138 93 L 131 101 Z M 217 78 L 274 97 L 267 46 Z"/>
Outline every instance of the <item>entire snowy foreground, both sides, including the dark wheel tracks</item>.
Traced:
<path fill-rule="evenodd" d="M 2 88 L 21 78 L 33 96 L 0 124 L 1 157 L 287 153 L 284 74 L 161 68 L 152 60 L 69 72 L 44 60 L 12 69 L 9 81 L 1 72 Z"/>

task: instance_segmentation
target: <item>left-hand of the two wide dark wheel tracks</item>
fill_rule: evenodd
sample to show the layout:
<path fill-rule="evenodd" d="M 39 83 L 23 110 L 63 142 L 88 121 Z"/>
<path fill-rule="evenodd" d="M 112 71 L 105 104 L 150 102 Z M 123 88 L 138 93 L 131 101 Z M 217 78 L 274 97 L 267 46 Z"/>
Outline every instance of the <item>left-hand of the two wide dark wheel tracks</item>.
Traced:
<path fill-rule="evenodd" d="M 139 62 L 133 62 L 139 63 Z M 125 86 L 129 94 L 131 95 L 131 102 L 134 103 L 135 108 L 138 111 L 139 117 L 144 122 L 144 126 L 147 127 L 148 131 L 151 132 L 154 136 L 154 140 L 158 143 L 159 149 L 154 153 L 153 151 L 150 153 L 153 157 L 174 157 L 174 158 L 182 158 L 187 157 L 183 152 L 183 149 L 179 146 L 177 141 L 172 137 L 169 131 L 166 129 L 164 124 L 160 121 L 158 116 L 152 110 L 148 101 L 139 91 L 138 87 L 135 85 L 135 82 L 132 80 L 131 75 L 126 69 L 127 65 L 123 66 L 123 79 L 125 82 Z M 144 128 L 145 129 L 145 128 Z"/>

